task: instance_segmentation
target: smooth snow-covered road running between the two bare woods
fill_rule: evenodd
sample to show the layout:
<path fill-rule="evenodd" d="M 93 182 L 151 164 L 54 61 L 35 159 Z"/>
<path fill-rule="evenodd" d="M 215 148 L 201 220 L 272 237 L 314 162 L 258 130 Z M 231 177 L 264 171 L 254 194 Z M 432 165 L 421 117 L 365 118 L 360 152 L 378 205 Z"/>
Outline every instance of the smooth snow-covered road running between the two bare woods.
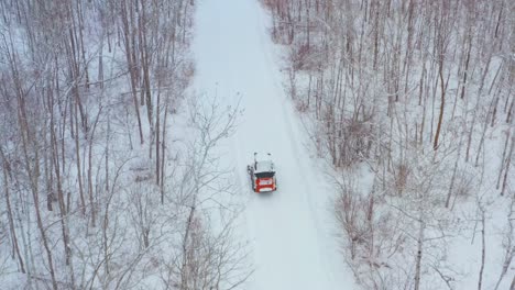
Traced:
<path fill-rule="evenodd" d="M 335 237 L 330 191 L 306 144 L 307 133 L 286 97 L 281 47 L 258 0 L 200 0 L 193 51 L 195 91 L 242 115 L 224 160 L 234 168 L 245 204 L 240 234 L 250 241 L 254 274 L 244 289 L 355 289 Z M 254 193 L 246 165 L 271 153 L 278 190 Z"/>

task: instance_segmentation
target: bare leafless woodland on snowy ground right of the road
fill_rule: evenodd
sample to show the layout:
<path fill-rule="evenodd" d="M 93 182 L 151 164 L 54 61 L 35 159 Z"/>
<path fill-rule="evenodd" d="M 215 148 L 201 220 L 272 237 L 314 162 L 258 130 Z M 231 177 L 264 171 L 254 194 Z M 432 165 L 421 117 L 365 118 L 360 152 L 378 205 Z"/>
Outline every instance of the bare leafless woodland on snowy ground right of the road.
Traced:
<path fill-rule="evenodd" d="M 474 224 L 458 222 L 456 201 L 476 198 L 469 202 L 483 234 L 489 211 L 513 227 L 513 207 L 495 207 L 514 203 L 514 3 L 262 2 L 272 37 L 288 47 L 289 93 L 324 132 L 313 134 L 319 154 L 344 169 L 336 213 L 357 279 L 365 289 L 421 289 L 426 275 L 454 287 L 456 265 L 445 258 L 459 235 L 451 227 Z M 369 186 L 352 174 L 363 164 Z M 513 234 L 503 232 L 496 288 Z M 487 288 L 484 241 L 479 289 Z"/>

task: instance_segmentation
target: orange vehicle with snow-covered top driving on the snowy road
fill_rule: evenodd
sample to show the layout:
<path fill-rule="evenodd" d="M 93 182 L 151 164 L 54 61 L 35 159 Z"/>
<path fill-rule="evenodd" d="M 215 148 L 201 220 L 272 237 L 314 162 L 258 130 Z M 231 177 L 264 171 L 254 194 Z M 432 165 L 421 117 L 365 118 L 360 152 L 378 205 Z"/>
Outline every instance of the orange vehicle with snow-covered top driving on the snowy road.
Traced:
<path fill-rule="evenodd" d="M 254 153 L 254 164 L 246 166 L 254 192 L 277 190 L 274 163 L 271 159 L 270 153 L 267 156 L 267 159 L 259 160 L 258 153 Z"/>

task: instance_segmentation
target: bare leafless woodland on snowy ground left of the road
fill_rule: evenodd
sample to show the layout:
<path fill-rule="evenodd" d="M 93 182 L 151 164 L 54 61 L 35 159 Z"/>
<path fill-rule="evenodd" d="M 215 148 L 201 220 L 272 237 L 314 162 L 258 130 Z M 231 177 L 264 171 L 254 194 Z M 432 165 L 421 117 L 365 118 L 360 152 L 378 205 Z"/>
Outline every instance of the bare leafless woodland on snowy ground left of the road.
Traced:
<path fill-rule="evenodd" d="M 211 233 L 194 214 L 212 178 L 199 154 L 216 142 L 187 157 L 168 144 L 195 72 L 194 11 L 193 0 L 0 1 L 2 285 L 212 289 L 235 279 L 224 268 L 238 250 L 227 248 L 230 228 Z"/>

